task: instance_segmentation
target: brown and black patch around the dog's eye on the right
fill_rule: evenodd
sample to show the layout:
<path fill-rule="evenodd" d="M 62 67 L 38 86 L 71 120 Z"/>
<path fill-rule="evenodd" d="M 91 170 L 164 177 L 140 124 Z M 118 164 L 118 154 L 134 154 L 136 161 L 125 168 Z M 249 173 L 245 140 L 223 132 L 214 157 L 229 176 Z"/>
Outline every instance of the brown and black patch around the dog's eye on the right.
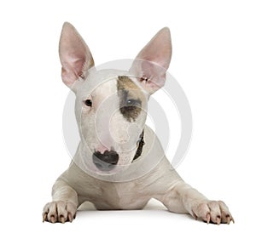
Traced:
<path fill-rule="evenodd" d="M 128 122 L 135 121 L 142 111 L 144 95 L 129 77 L 121 76 L 117 82 L 119 111 Z"/>

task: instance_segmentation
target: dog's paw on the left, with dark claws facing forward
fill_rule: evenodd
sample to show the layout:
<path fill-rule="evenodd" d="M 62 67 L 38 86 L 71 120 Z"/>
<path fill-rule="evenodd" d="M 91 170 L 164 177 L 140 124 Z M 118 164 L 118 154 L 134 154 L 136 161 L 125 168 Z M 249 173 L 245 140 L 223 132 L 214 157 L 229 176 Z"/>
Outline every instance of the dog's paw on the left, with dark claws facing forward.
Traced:
<path fill-rule="evenodd" d="M 56 201 L 49 202 L 44 206 L 43 222 L 50 223 L 67 221 L 72 222 L 75 219 L 77 207 L 73 202 Z"/>

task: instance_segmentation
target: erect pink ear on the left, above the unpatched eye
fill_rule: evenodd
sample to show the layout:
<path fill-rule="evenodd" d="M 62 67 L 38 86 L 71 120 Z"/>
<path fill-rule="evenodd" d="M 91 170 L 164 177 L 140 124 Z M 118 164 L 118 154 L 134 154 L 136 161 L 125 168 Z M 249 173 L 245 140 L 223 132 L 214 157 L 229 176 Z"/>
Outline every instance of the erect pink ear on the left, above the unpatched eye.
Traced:
<path fill-rule="evenodd" d="M 90 49 L 79 32 L 68 22 L 62 26 L 59 54 L 62 81 L 69 88 L 94 65 Z"/>

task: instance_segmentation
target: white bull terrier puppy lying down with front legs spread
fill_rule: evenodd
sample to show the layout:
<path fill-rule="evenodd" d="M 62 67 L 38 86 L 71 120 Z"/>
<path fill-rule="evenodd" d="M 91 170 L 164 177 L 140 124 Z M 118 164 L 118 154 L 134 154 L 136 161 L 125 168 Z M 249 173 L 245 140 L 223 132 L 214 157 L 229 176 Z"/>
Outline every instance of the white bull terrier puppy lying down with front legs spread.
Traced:
<path fill-rule="evenodd" d="M 64 23 L 59 46 L 63 83 L 76 94 L 80 143 L 52 189 L 43 221 L 75 219 L 86 201 L 96 209 L 142 209 L 151 198 L 174 213 L 207 223 L 234 219 L 222 201 L 211 201 L 186 184 L 145 125 L 148 98 L 161 88 L 172 57 L 169 29 L 161 29 L 140 51 L 131 71 L 96 71 L 79 32 Z"/>

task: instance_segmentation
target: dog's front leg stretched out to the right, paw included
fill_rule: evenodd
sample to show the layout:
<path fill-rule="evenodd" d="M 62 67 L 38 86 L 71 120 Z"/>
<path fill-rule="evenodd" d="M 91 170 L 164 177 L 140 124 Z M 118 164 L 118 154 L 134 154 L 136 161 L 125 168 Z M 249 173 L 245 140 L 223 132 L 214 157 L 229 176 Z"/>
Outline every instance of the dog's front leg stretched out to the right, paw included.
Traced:
<path fill-rule="evenodd" d="M 160 198 L 170 211 L 175 213 L 190 213 L 195 219 L 209 223 L 230 224 L 234 219 L 229 208 L 222 201 L 210 201 L 199 191 L 182 180 L 178 181 Z"/>

